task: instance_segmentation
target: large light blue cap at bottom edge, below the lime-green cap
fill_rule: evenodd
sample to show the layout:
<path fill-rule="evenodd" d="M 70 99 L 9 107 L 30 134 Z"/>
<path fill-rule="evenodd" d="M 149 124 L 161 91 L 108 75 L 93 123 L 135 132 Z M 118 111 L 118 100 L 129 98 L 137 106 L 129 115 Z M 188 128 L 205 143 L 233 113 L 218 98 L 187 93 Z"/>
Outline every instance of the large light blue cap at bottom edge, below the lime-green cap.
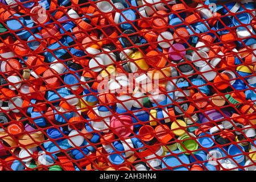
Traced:
<path fill-rule="evenodd" d="M 179 150 L 172 151 L 172 152 L 174 154 L 179 154 L 179 155 L 167 156 L 167 157 L 163 158 L 163 161 L 164 161 L 164 163 L 167 164 L 167 166 L 166 166 L 166 164 L 162 163 L 162 168 L 172 167 L 172 168 L 174 168 L 174 171 L 188 171 L 187 167 L 183 167 L 184 164 L 190 163 L 187 155 L 180 154 L 181 151 L 179 151 Z M 170 155 L 170 153 L 167 153 L 166 155 Z M 177 157 L 179 159 L 177 159 Z M 181 167 L 176 167 L 176 166 L 181 166 Z"/>

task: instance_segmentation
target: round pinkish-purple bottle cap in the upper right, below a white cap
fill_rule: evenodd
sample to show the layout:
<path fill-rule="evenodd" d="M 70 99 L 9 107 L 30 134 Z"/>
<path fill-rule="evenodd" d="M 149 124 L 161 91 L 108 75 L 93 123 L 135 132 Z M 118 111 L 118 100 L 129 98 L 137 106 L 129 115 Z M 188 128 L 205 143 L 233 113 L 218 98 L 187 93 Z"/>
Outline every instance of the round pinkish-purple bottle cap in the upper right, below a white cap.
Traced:
<path fill-rule="evenodd" d="M 183 44 L 175 43 L 169 49 L 169 58 L 173 61 L 179 61 L 185 56 L 186 51 Z"/>

